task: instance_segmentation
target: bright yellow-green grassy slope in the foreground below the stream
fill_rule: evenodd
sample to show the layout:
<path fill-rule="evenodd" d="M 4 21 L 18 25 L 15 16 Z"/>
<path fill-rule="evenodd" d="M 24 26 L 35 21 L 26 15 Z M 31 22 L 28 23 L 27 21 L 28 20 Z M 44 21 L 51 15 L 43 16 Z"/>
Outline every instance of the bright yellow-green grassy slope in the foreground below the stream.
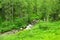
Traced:
<path fill-rule="evenodd" d="M 43 22 L 33 25 L 29 30 L 16 34 L 0 35 L 0 40 L 60 40 L 60 21 Z"/>

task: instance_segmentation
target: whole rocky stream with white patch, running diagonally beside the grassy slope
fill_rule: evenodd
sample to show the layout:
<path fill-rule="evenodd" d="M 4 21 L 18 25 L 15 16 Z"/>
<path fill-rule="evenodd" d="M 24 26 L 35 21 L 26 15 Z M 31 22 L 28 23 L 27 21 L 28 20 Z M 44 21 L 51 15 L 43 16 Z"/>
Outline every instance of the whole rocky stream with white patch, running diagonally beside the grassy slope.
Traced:
<path fill-rule="evenodd" d="M 32 22 L 31 24 L 28 24 L 28 25 L 26 26 L 26 28 L 13 29 L 13 30 L 8 31 L 8 32 L 5 32 L 5 33 L 0 33 L 0 35 L 1 35 L 1 34 L 15 34 L 15 33 L 19 32 L 19 31 L 24 30 L 24 29 L 26 29 L 26 30 L 31 29 L 32 25 L 34 25 L 34 24 L 37 23 L 38 21 L 39 21 L 39 20 L 33 20 L 33 22 Z"/>

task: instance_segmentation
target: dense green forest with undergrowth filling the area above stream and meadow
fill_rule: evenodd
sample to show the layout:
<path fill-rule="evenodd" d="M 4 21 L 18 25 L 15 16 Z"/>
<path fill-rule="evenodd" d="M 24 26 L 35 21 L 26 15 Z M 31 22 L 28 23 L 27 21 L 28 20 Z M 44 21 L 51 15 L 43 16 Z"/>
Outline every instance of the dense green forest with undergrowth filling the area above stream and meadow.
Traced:
<path fill-rule="evenodd" d="M 60 0 L 0 0 L 0 32 L 26 26 L 33 20 L 60 20 Z"/>

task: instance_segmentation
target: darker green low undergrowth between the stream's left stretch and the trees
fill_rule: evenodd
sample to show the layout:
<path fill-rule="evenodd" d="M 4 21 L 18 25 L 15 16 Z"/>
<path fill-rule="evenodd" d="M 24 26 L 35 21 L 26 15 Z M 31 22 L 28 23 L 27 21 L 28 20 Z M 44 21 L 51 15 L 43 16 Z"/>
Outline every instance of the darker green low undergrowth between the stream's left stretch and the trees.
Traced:
<path fill-rule="evenodd" d="M 0 32 L 3 33 L 3 32 L 13 30 L 13 29 L 19 29 L 21 27 L 26 26 L 27 24 L 28 24 L 27 22 L 25 22 L 23 20 L 20 21 L 17 19 L 13 23 L 10 21 L 4 21 L 4 22 L 0 23 Z"/>

